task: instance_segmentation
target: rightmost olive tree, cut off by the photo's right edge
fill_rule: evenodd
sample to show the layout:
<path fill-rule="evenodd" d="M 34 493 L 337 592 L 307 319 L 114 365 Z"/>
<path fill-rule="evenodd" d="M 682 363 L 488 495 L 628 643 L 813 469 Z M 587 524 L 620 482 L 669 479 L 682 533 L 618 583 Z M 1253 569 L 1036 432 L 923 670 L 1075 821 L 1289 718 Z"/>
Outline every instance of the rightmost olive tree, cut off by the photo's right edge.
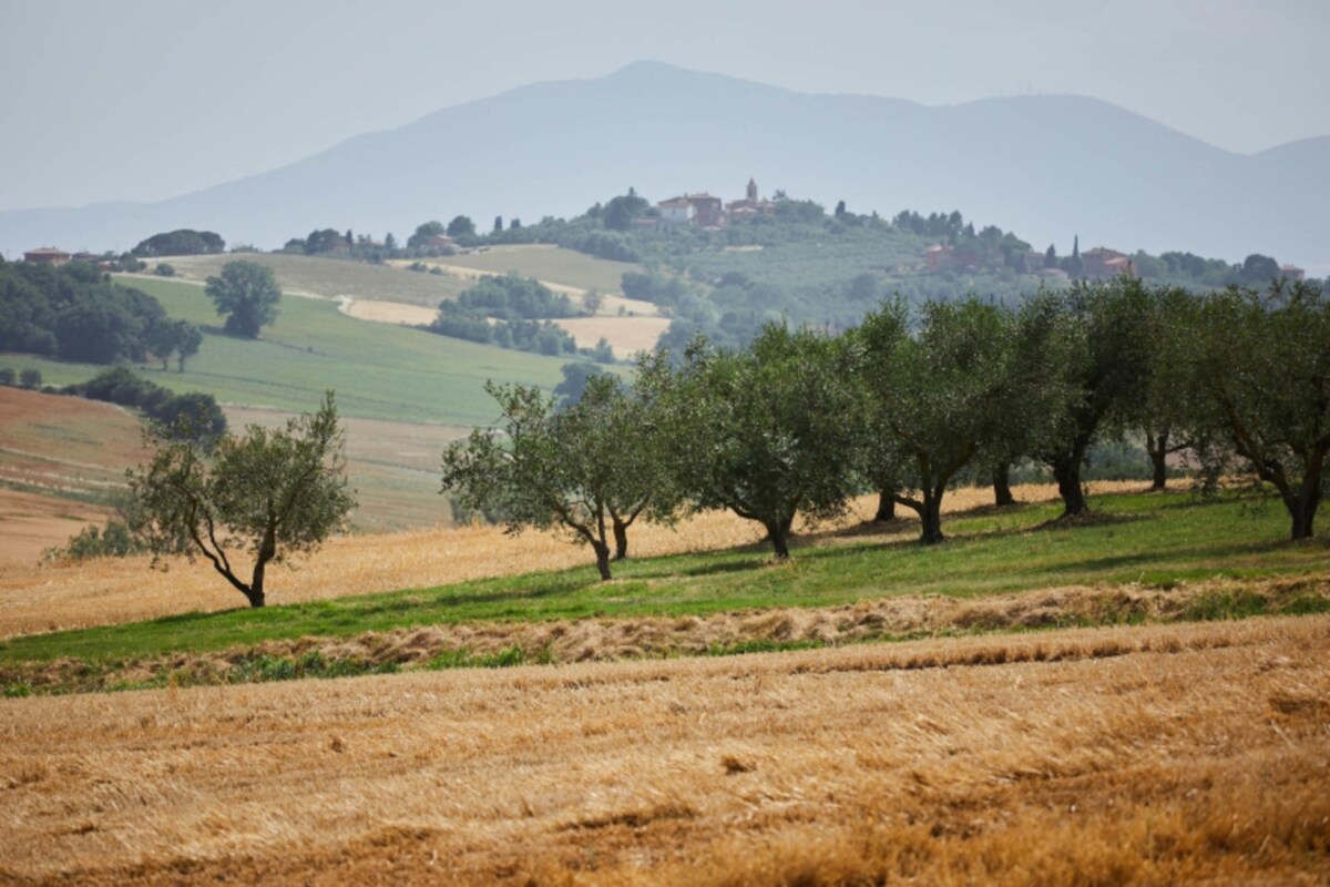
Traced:
<path fill-rule="evenodd" d="M 1310 539 L 1330 491 L 1330 299 L 1315 286 L 1277 282 L 1266 294 L 1210 295 L 1198 314 L 1173 338 L 1176 359 L 1192 370 L 1197 422 L 1275 488 L 1291 537 Z M 1206 461 L 1212 477 L 1230 467 L 1224 453 Z"/>

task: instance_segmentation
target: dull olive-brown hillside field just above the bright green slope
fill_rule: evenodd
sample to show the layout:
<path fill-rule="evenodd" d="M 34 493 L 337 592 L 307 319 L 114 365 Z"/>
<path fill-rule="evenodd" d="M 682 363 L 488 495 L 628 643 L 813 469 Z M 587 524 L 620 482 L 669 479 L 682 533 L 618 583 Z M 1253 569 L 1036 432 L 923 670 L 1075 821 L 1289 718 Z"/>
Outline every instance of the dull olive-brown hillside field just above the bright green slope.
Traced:
<path fill-rule="evenodd" d="M 443 299 L 456 298 L 471 283 L 447 274 L 419 274 L 388 265 L 368 265 L 311 255 L 283 253 L 243 253 L 238 255 L 180 255 L 162 259 L 176 274 L 193 282 L 218 274 L 227 262 L 243 259 L 273 269 L 283 290 L 309 293 L 326 298 L 351 297 L 382 302 L 404 302 L 436 307 Z M 152 279 L 152 278 L 149 278 Z M 144 281 L 136 277 L 136 286 Z M 128 281 L 126 281 L 128 282 Z"/>

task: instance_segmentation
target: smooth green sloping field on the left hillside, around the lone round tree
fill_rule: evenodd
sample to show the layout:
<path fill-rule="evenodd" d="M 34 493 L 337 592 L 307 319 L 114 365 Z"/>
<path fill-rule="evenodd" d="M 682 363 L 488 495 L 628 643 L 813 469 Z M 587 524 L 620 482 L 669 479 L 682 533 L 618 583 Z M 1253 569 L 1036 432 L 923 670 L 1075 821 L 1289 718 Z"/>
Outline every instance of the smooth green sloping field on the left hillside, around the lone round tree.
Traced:
<path fill-rule="evenodd" d="M 332 388 L 344 416 L 485 426 L 496 418 L 484 392 L 487 379 L 552 387 L 565 362 L 367 323 L 332 302 L 290 295 L 262 338 L 235 339 L 217 332 L 222 319 L 201 287 L 141 278 L 132 285 L 160 299 L 172 317 L 205 327 L 203 344 L 185 372 L 164 372 L 161 364 L 141 371 L 173 391 L 203 391 L 227 404 L 305 412 Z M 105 370 L 13 355 L 0 363 L 39 368 L 48 384 L 82 382 Z"/>

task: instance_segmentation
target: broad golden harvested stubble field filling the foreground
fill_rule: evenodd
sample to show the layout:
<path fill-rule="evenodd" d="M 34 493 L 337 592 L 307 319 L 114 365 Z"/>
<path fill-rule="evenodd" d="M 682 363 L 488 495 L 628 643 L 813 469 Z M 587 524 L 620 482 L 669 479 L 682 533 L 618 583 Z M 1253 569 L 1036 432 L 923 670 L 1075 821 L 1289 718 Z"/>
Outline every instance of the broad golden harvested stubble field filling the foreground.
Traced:
<path fill-rule="evenodd" d="M 0 879 L 1330 879 L 1330 617 L 0 701 Z"/>

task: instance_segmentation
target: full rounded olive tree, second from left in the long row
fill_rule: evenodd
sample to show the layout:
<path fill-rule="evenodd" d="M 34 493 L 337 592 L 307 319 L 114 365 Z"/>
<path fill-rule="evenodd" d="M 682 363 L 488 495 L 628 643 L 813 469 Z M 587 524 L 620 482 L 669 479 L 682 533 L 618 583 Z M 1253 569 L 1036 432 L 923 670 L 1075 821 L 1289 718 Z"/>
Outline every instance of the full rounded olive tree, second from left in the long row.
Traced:
<path fill-rule="evenodd" d="M 777 560 L 790 556 L 797 513 L 843 513 L 855 489 L 853 372 L 846 340 L 783 323 L 742 351 L 694 342 L 681 367 L 645 367 L 670 404 L 672 461 L 692 507 L 757 521 Z"/>

